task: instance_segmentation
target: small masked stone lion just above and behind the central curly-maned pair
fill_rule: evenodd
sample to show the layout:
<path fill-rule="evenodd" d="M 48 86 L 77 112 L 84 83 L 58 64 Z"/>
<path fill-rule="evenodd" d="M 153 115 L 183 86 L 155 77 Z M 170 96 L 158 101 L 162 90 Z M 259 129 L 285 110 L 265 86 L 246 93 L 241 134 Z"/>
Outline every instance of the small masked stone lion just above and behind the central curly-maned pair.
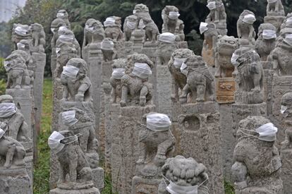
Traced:
<path fill-rule="evenodd" d="M 114 41 L 109 37 L 102 40 L 101 49 L 104 61 L 113 61 L 118 57 Z"/>

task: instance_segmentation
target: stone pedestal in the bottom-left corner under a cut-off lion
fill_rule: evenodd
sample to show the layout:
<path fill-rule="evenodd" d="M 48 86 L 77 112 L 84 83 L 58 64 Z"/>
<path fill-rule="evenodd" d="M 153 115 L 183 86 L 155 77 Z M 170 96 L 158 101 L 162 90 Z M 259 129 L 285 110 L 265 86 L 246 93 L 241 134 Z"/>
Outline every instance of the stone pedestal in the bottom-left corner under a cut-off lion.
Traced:
<path fill-rule="evenodd" d="M 32 181 L 25 171 L 21 169 L 0 169 L 0 193 L 32 194 Z"/>

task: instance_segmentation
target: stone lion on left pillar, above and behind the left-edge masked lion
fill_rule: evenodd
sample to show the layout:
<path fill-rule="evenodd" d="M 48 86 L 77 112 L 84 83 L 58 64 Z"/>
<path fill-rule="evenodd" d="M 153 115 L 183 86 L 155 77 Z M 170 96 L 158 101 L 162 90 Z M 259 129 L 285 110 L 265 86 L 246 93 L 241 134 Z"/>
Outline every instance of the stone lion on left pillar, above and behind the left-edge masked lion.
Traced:
<path fill-rule="evenodd" d="M 7 89 L 30 88 L 30 75 L 23 56 L 15 52 L 7 56 L 4 61 L 4 68 L 8 75 Z"/>

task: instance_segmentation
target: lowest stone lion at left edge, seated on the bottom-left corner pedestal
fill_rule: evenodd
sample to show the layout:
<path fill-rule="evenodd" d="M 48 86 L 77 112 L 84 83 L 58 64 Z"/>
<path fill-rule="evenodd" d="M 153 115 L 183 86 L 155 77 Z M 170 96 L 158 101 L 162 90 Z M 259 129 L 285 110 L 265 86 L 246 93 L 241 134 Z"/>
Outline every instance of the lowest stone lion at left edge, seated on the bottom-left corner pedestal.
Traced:
<path fill-rule="evenodd" d="M 25 148 L 17 140 L 6 136 L 7 130 L 7 124 L 0 121 L 0 169 L 23 168 Z"/>

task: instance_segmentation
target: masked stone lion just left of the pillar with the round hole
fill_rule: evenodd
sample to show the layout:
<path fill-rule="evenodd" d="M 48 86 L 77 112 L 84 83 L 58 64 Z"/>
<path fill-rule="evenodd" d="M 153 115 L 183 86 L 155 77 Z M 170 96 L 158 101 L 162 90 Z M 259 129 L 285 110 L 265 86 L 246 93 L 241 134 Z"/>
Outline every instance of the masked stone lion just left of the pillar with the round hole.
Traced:
<path fill-rule="evenodd" d="M 142 177 L 161 177 L 161 167 L 174 151 L 174 135 L 171 121 L 166 114 L 150 113 L 142 116 L 139 131 L 140 155 L 137 175 Z M 155 150 L 155 151 L 154 151 Z"/>

